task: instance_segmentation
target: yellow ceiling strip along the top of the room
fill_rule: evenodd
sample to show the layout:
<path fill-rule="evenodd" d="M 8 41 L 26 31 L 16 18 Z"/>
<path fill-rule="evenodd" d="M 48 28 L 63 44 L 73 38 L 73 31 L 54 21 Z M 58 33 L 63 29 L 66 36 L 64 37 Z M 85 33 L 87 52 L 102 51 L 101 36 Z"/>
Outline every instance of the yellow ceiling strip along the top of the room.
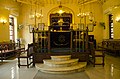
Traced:
<path fill-rule="evenodd" d="M 46 4 L 82 4 L 82 3 L 88 3 L 88 2 L 105 2 L 106 0 L 16 0 L 17 2 L 20 3 L 25 3 L 25 4 L 41 4 L 41 5 L 46 5 Z"/>

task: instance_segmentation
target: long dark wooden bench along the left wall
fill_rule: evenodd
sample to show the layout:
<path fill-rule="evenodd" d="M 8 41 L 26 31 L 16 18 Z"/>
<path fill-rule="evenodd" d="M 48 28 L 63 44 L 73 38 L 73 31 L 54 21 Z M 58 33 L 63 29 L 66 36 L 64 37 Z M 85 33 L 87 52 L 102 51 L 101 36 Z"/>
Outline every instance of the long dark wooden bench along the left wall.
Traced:
<path fill-rule="evenodd" d="M 2 42 L 0 43 L 0 60 L 6 60 L 10 57 L 15 57 L 18 50 L 25 50 L 25 48 L 16 47 L 16 43 Z"/>

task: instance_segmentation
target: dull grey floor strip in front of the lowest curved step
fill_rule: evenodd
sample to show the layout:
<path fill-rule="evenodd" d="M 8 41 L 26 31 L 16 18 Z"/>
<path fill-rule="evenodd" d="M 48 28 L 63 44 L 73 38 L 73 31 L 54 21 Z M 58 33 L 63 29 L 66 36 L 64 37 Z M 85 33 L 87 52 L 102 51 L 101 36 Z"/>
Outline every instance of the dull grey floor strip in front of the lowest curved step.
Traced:
<path fill-rule="evenodd" d="M 86 72 L 76 72 L 71 74 L 49 74 L 38 71 L 33 79 L 90 79 Z"/>

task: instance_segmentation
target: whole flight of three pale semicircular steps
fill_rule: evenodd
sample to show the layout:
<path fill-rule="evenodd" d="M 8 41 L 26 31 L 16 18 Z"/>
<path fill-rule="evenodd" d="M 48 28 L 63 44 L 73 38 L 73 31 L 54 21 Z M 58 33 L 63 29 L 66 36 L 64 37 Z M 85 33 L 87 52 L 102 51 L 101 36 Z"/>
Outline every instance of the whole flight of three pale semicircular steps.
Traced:
<path fill-rule="evenodd" d="M 73 73 L 85 70 L 87 62 L 78 62 L 79 59 L 71 59 L 71 55 L 51 56 L 51 59 L 43 60 L 43 64 L 36 64 L 41 72 L 53 74 Z"/>

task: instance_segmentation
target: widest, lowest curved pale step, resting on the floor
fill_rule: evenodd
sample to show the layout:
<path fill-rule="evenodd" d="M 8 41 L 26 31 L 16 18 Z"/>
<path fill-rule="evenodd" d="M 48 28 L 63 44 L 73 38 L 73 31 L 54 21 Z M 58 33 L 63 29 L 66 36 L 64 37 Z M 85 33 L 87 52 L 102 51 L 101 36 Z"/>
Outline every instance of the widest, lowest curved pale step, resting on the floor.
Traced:
<path fill-rule="evenodd" d="M 69 67 L 50 67 L 45 64 L 36 64 L 37 68 L 41 72 L 51 73 L 51 74 L 67 74 L 73 72 L 80 72 L 85 70 L 87 62 L 79 62 L 76 65 L 69 66 Z"/>

